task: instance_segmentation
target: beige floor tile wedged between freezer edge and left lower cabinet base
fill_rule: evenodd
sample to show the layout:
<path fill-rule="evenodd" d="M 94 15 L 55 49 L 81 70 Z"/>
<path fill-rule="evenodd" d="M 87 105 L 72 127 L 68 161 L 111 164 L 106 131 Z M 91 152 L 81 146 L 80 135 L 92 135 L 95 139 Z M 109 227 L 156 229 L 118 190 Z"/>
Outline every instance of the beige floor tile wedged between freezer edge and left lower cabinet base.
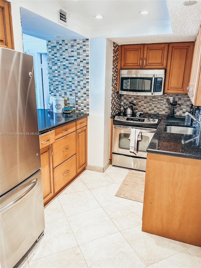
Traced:
<path fill-rule="evenodd" d="M 45 222 L 65 217 L 62 206 L 57 197 L 54 200 L 52 200 L 52 202 L 50 202 L 48 205 L 46 205 L 44 213 L 45 213 Z"/>

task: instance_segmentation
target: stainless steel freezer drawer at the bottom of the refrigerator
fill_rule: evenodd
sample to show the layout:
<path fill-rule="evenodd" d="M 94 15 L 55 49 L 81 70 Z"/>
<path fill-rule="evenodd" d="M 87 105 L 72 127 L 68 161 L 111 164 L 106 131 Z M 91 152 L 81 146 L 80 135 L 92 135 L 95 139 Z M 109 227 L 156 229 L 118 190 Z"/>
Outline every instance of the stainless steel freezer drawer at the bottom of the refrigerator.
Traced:
<path fill-rule="evenodd" d="M 13 267 L 45 228 L 41 170 L 0 198 L 1 268 Z"/>

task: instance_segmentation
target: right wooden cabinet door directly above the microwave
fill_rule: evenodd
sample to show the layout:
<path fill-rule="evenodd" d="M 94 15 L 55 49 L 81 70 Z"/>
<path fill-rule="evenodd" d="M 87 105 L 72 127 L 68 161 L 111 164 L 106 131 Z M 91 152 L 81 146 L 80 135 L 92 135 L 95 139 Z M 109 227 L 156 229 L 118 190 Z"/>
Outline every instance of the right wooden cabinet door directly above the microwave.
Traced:
<path fill-rule="evenodd" d="M 168 44 L 144 45 L 143 68 L 166 68 Z"/>

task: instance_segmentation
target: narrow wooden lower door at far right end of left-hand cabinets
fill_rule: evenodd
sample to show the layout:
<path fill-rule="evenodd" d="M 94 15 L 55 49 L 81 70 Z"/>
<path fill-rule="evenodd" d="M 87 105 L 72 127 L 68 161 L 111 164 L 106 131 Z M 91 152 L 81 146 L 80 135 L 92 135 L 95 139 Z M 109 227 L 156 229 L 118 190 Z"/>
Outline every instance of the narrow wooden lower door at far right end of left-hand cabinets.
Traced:
<path fill-rule="evenodd" d="M 77 172 L 87 165 L 87 127 L 77 130 Z"/>

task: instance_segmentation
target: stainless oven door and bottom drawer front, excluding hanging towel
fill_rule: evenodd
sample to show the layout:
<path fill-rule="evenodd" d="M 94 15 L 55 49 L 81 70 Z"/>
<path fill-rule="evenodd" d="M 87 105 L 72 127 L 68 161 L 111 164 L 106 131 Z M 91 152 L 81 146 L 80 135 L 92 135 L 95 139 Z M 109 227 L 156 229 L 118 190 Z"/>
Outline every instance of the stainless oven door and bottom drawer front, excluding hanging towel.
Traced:
<path fill-rule="evenodd" d="M 128 140 L 131 128 L 134 127 L 113 125 L 112 165 L 145 171 L 146 149 L 156 129 L 135 127 L 141 129 L 142 140 L 137 143 L 137 153 L 134 155 L 130 152 L 130 141 Z"/>

